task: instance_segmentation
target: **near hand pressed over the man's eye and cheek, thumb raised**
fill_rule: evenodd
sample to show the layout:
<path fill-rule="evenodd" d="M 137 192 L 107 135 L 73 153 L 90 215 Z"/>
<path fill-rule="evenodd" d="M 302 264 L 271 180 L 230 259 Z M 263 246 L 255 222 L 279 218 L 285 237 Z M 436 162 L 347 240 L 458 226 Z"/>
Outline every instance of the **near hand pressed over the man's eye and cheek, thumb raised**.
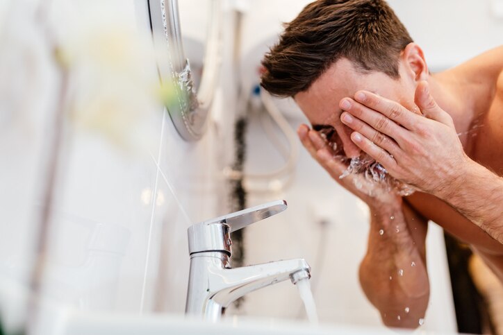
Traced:
<path fill-rule="evenodd" d="M 452 118 L 438 107 L 427 82 L 415 91 L 415 114 L 371 92 L 344 98 L 341 121 L 355 130 L 352 140 L 390 175 L 420 191 L 444 195 L 470 164 Z"/>

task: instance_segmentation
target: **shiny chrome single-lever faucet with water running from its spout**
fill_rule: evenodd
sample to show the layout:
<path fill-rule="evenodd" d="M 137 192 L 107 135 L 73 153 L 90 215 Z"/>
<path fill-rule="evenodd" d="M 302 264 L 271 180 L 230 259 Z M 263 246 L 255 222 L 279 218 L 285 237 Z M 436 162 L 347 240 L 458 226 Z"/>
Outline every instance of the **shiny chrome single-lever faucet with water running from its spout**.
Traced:
<path fill-rule="evenodd" d="M 231 268 L 231 232 L 283 212 L 286 201 L 277 200 L 188 228 L 190 274 L 185 313 L 217 321 L 229 305 L 243 295 L 290 279 L 293 284 L 311 277 L 304 259 L 272 261 Z"/>

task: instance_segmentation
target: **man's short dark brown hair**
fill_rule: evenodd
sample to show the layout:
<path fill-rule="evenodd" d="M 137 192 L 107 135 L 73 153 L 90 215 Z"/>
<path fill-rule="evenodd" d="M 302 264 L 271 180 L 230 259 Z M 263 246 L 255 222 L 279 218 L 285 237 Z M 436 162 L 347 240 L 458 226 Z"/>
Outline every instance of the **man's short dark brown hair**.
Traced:
<path fill-rule="evenodd" d="M 399 78 L 399 54 L 413 42 L 384 0 L 318 0 L 308 4 L 262 61 L 261 86 L 276 96 L 306 91 L 333 62 Z"/>

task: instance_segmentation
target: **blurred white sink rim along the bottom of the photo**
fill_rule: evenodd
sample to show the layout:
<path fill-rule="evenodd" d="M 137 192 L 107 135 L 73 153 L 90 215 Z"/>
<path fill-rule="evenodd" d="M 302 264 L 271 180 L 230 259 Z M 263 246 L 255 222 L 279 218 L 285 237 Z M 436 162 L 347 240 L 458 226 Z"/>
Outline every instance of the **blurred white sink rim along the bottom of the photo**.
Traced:
<path fill-rule="evenodd" d="M 1 278 L 0 278 L 1 279 Z M 26 311 L 26 291 L 0 280 L 0 311 L 7 321 L 22 320 Z M 396 329 L 358 327 L 356 325 L 313 325 L 298 320 L 249 318 L 232 316 L 220 323 L 209 323 L 180 314 L 119 313 L 82 311 L 58 304 L 42 302 L 35 335 L 266 335 L 266 334 L 411 334 Z M 15 329 L 11 329 L 15 330 Z M 447 334 L 422 332 L 422 334 Z"/>

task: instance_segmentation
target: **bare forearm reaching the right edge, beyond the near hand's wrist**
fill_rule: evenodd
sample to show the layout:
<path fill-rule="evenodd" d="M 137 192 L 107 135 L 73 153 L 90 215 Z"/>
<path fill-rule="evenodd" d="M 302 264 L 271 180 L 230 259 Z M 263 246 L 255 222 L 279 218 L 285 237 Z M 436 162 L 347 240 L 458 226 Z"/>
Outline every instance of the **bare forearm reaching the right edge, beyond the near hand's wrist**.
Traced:
<path fill-rule="evenodd" d="M 455 173 L 434 195 L 503 243 L 503 178 L 472 160 Z"/>

